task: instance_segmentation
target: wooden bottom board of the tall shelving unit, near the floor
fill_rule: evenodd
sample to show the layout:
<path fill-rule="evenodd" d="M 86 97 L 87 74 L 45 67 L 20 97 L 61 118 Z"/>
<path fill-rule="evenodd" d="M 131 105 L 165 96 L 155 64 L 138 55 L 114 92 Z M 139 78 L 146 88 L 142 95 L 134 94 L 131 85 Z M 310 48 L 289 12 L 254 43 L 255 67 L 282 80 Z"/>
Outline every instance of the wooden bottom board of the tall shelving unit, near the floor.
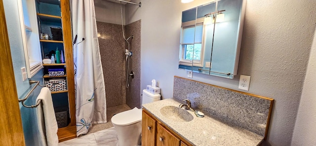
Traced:
<path fill-rule="evenodd" d="M 74 138 L 77 138 L 76 125 L 75 126 L 71 126 L 69 124 L 67 127 L 58 128 L 57 135 L 58 135 L 59 143 L 67 141 L 67 140 L 71 140 L 71 139 L 74 139 Z"/>

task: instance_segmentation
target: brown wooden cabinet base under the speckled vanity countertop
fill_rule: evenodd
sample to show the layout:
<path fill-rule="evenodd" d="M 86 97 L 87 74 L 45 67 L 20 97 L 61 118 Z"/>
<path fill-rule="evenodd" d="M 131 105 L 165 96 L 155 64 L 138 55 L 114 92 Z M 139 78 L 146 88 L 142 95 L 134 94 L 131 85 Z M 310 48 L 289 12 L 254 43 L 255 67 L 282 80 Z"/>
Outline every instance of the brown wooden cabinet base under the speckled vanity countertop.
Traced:
<path fill-rule="evenodd" d="M 180 135 L 143 110 L 142 146 L 191 146 Z"/>

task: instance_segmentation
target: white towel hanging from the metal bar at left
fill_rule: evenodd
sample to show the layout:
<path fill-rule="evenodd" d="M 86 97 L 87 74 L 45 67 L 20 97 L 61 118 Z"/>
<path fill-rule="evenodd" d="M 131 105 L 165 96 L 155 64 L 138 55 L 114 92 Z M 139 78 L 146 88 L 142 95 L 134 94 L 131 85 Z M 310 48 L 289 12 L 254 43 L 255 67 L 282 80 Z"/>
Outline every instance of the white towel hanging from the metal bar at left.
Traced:
<path fill-rule="evenodd" d="M 41 104 L 36 109 L 41 146 L 58 146 L 58 126 L 50 90 L 47 87 L 40 90 L 36 102 L 39 100 Z"/>

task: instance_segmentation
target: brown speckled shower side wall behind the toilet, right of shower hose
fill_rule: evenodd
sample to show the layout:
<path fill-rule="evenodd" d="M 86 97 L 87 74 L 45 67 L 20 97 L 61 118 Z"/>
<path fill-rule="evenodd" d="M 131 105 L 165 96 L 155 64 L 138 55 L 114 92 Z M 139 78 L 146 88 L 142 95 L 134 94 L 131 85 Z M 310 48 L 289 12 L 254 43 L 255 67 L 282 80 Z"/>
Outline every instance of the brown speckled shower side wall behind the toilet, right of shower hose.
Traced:
<path fill-rule="evenodd" d="M 130 59 L 130 71 L 134 71 L 133 79 L 130 79 L 129 88 L 126 89 L 126 105 L 133 109 L 140 108 L 140 50 L 141 50 L 141 20 L 135 21 L 125 26 L 126 38 L 134 36 L 130 40 L 130 51 L 133 53 Z M 128 44 L 126 43 L 126 48 Z M 127 68 L 126 68 L 127 70 Z"/>

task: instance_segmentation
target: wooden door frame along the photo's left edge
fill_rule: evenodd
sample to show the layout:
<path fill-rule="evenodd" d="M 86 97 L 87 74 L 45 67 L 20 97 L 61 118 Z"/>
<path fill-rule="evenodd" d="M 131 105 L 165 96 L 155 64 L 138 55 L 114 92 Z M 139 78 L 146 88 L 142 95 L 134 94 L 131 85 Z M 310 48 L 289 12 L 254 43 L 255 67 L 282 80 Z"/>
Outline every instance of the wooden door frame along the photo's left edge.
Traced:
<path fill-rule="evenodd" d="M 0 146 L 25 146 L 2 0 L 0 0 L 0 48 Z"/>

